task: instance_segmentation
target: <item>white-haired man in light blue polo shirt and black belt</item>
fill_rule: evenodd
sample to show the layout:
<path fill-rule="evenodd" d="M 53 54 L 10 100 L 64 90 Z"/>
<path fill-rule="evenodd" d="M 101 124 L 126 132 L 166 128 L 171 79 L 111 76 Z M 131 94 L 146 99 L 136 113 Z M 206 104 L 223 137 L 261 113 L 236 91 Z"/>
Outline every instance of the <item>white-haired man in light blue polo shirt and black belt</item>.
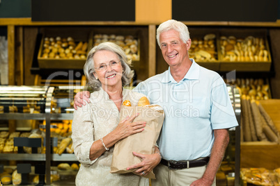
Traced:
<path fill-rule="evenodd" d="M 153 186 L 216 185 L 215 176 L 228 145 L 228 128 L 238 126 L 226 84 L 219 74 L 189 58 L 192 40 L 187 26 L 168 20 L 157 28 L 157 43 L 169 69 L 134 88 L 151 104 L 164 108 L 165 119 L 157 144 L 159 161 L 139 153 L 142 162 L 128 169 L 137 173 L 154 168 Z M 89 93 L 75 96 L 75 108 Z M 155 167 L 156 166 L 156 167 Z"/>

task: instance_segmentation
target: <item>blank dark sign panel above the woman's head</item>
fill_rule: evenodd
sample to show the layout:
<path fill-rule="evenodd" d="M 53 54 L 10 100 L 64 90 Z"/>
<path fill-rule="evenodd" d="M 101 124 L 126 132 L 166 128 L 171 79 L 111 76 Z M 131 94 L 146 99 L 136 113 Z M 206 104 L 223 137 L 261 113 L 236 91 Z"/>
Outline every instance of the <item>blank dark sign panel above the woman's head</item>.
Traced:
<path fill-rule="evenodd" d="M 135 22 L 133 0 L 32 0 L 33 22 Z"/>

